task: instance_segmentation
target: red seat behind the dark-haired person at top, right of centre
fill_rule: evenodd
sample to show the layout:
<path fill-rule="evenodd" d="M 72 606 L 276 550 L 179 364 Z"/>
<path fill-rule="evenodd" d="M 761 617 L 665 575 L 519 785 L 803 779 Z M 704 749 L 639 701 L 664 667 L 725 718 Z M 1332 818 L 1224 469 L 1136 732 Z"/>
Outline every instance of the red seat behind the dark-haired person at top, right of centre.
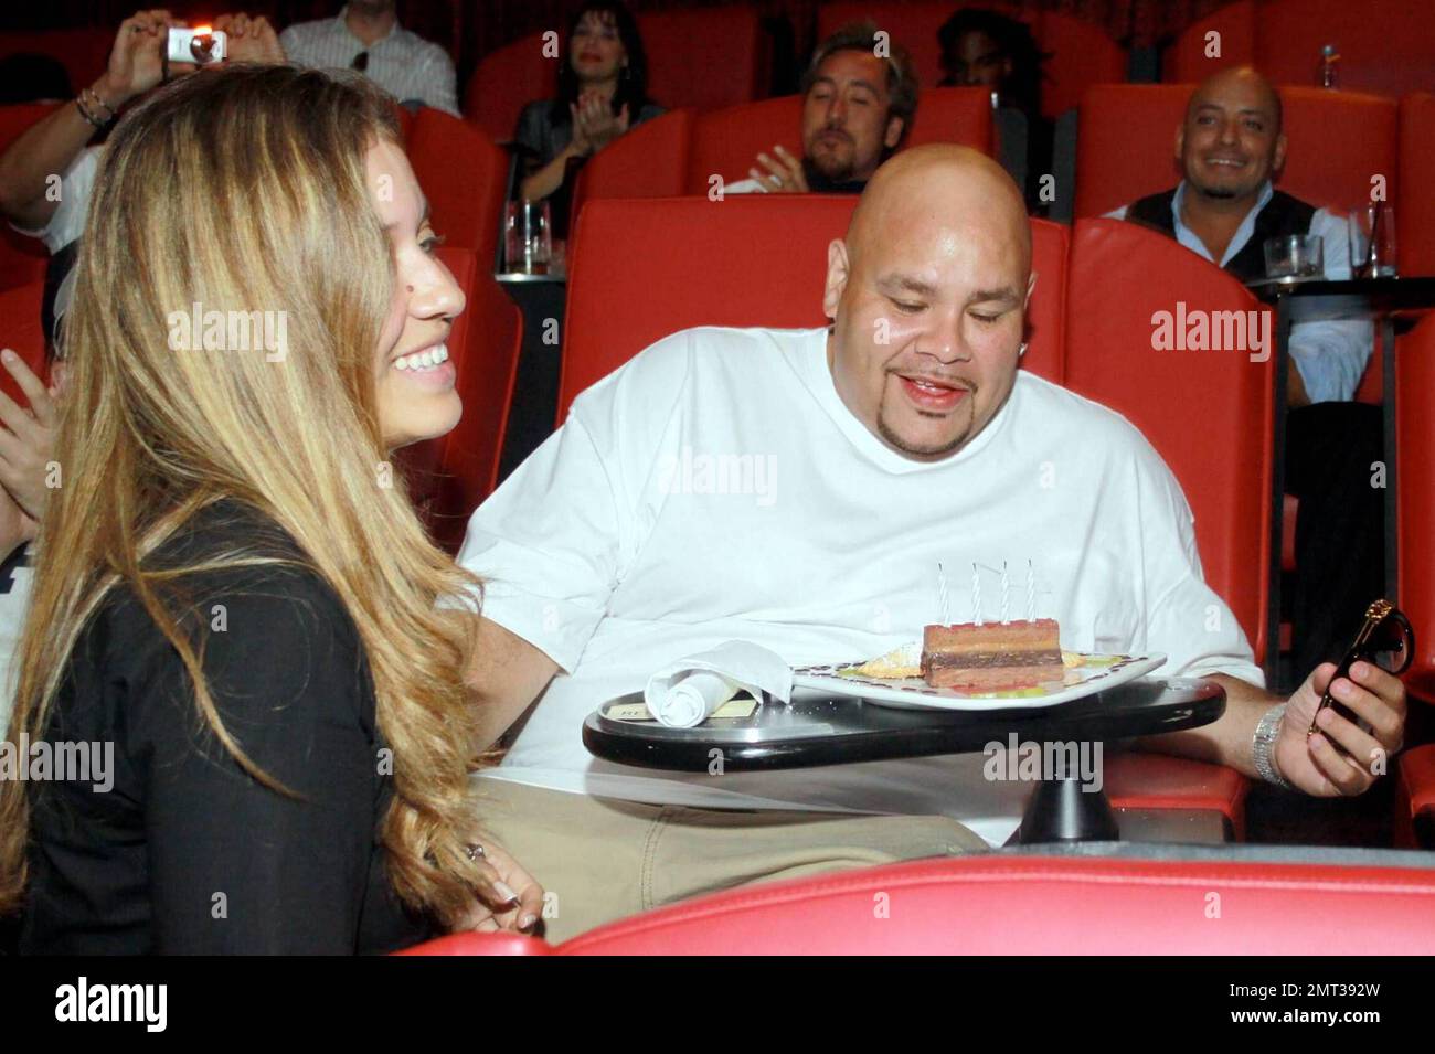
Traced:
<path fill-rule="evenodd" d="M 911 52 L 924 89 L 941 80 L 941 47 L 937 30 L 959 3 L 834 3 L 818 9 L 817 36 L 822 40 L 850 22 L 872 19 L 878 29 Z M 992 3 L 993 7 L 1032 26 L 1036 43 L 1052 57 L 1045 63 L 1048 80 L 1042 86 L 1042 110 L 1049 118 L 1069 110 L 1091 85 L 1126 79 L 1126 53 L 1104 29 L 1060 11 L 1020 10 Z"/>

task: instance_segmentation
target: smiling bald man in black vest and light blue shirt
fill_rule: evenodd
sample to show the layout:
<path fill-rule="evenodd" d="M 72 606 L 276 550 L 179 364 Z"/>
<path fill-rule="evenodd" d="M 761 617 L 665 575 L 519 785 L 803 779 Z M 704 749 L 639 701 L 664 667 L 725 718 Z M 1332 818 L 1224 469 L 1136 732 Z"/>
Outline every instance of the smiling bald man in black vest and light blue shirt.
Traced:
<path fill-rule="evenodd" d="M 1345 218 L 1271 186 L 1286 148 L 1276 89 L 1253 69 L 1223 70 L 1197 87 L 1177 129 L 1181 184 L 1109 215 L 1175 238 L 1243 283 L 1266 277 L 1267 238 L 1320 235 L 1326 277 L 1349 278 Z M 1349 402 L 1372 337 L 1369 321 L 1302 323 L 1290 336 L 1286 489 L 1300 499 L 1294 670 L 1337 660 L 1385 589 L 1380 409 Z"/>

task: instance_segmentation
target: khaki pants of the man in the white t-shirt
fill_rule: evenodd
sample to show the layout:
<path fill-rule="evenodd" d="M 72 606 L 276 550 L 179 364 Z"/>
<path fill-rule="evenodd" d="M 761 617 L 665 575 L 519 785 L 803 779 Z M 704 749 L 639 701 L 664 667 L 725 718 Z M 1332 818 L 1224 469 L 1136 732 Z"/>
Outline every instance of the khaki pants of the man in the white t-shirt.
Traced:
<path fill-rule="evenodd" d="M 730 886 L 986 849 L 946 816 L 689 809 L 495 779 L 479 789 L 485 827 L 548 895 L 552 942 Z"/>

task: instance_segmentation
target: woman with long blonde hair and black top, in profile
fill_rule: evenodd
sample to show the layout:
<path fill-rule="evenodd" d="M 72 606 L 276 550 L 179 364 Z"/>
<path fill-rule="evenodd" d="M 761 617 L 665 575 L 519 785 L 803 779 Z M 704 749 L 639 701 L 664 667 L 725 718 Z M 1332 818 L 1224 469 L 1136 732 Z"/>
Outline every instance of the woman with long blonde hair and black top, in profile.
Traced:
<path fill-rule="evenodd" d="M 386 951 L 530 928 L 479 830 L 476 582 L 389 452 L 453 427 L 433 257 L 362 77 L 202 72 L 110 139 L 66 321 L 0 915 L 22 951 Z M 106 761 L 108 756 L 108 761 Z"/>

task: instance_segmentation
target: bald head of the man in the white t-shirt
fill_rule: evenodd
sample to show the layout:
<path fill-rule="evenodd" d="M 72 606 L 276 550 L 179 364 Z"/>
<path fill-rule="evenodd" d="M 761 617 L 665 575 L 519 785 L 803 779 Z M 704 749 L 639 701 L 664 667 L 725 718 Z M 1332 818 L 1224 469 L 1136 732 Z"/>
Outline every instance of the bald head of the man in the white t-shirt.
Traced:
<path fill-rule="evenodd" d="M 887 162 L 828 251 L 832 381 L 898 453 L 937 460 L 996 416 L 1016 383 L 1030 228 L 1010 178 L 960 146 Z"/>

